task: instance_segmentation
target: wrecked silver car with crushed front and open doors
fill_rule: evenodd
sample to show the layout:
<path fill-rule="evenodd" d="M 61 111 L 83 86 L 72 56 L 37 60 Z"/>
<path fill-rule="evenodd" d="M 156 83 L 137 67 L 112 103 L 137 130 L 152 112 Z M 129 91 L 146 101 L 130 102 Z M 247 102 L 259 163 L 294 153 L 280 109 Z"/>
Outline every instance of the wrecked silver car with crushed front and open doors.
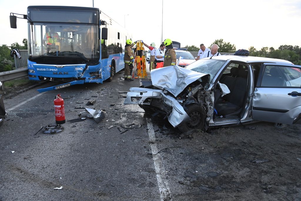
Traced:
<path fill-rule="evenodd" d="M 301 116 L 301 66 L 281 59 L 222 55 L 152 70 L 151 80 L 130 88 L 124 104 L 162 113 L 182 132 Z"/>

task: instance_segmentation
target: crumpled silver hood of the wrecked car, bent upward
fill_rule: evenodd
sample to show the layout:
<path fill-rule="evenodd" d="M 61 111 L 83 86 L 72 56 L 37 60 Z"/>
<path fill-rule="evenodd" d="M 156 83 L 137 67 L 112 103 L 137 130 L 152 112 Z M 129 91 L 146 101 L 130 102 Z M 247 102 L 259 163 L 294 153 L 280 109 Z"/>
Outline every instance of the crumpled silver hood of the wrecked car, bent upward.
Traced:
<path fill-rule="evenodd" d="M 191 71 L 176 65 L 151 70 L 153 85 L 161 90 L 169 91 L 174 96 L 178 96 L 186 86 L 204 76 L 209 76 L 209 74 Z"/>

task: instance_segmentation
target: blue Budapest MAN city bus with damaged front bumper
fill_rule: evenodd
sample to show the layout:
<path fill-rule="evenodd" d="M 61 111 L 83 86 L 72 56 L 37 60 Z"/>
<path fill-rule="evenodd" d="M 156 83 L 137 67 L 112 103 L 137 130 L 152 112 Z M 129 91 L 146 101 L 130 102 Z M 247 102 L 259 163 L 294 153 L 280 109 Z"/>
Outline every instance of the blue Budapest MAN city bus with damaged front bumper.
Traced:
<path fill-rule="evenodd" d="M 66 82 L 39 92 L 112 81 L 124 68 L 124 45 L 132 36 L 98 8 L 28 6 L 26 17 L 29 80 Z"/>

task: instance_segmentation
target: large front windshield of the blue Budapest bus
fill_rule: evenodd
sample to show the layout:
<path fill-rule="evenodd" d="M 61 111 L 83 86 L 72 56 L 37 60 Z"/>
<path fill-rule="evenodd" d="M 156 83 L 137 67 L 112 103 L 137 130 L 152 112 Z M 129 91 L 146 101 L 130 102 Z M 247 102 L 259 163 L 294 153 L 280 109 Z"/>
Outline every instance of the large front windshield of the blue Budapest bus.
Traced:
<path fill-rule="evenodd" d="M 29 60 L 44 63 L 53 63 L 54 59 L 58 59 L 56 63 L 99 60 L 99 28 L 95 24 L 33 23 L 28 26 Z"/>

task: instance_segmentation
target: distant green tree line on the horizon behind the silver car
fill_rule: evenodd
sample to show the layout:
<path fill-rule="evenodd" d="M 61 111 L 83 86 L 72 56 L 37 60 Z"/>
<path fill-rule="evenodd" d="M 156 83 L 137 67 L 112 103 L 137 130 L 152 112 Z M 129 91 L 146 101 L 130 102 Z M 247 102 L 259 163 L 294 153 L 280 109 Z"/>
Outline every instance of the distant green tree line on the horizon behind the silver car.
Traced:
<path fill-rule="evenodd" d="M 217 39 L 211 43 L 211 45 L 213 44 L 217 44 L 219 46 L 219 52 L 234 53 L 236 51 L 234 44 L 225 42 L 223 39 Z M 185 48 L 187 48 L 189 52 L 198 52 L 200 46 L 187 45 Z M 262 47 L 260 50 L 256 50 L 254 46 L 250 46 L 248 50 L 250 52 L 250 56 L 284 59 L 295 65 L 301 65 L 301 48 L 299 46 L 281 45 L 278 49 L 273 47 Z"/>

